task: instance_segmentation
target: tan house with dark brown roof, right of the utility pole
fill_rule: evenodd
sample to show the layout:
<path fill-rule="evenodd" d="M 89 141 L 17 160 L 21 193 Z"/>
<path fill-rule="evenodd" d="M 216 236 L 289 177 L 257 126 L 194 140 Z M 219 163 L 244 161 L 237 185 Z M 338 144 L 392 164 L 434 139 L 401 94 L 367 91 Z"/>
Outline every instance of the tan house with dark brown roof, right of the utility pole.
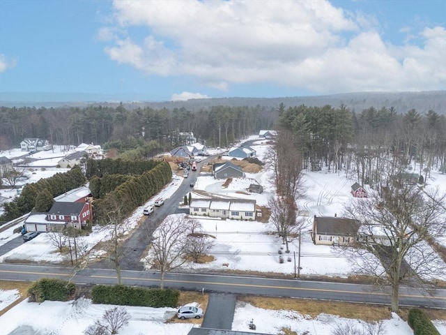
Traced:
<path fill-rule="evenodd" d="M 314 216 L 312 240 L 325 246 L 347 245 L 357 239 L 360 221 L 337 216 Z"/>

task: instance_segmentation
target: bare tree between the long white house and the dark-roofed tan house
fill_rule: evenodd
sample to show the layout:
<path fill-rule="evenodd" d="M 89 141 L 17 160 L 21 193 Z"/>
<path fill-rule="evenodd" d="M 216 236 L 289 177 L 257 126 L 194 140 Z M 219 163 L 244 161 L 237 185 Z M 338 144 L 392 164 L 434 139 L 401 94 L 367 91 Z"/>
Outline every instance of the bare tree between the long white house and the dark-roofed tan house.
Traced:
<path fill-rule="evenodd" d="M 275 226 L 279 237 L 282 237 L 282 242 L 286 245 L 286 253 L 289 253 L 289 238 L 299 233 L 304 222 L 298 221 L 297 207 L 291 198 L 270 198 L 268 206 L 271 209 L 270 221 Z"/>

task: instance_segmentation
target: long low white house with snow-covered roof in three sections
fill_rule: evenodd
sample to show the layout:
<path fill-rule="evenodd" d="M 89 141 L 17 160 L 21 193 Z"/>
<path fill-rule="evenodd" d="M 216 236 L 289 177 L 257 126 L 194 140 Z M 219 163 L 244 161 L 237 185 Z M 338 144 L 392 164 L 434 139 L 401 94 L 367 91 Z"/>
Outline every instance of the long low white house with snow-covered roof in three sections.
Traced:
<path fill-rule="evenodd" d="M 224 198 L 192 199 L 189 207 L 190 215 L 249 221 L 253 221 L 256 216 L 256 200 Z"/>

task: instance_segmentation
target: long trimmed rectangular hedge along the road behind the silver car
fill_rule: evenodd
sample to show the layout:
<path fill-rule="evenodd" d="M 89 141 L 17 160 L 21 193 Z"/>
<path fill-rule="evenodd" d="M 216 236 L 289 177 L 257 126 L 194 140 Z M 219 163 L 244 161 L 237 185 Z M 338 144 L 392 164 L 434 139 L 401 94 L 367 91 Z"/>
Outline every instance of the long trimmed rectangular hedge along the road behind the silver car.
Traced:
<path fill-rule="evenodd" d="M 146 307 L 176 307 L 180 291 L 137 288 L 125 285 L 95 285 L 91 290 L 93 304 Z"/>

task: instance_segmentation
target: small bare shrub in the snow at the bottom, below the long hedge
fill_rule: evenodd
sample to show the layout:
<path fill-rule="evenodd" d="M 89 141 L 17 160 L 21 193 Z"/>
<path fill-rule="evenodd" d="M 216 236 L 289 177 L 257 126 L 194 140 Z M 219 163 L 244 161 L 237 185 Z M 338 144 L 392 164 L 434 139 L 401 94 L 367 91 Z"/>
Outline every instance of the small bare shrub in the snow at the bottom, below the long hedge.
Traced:
<path fill-rule="evenodd" d="M 101 320 L 96 320 L 93 325 L 90 325 L 85 335 L 107 335 L 118 334 L 118 330 L 128 325 L 130 315 L 124 307 L 114 307 L 107 309 L 102 315 Z"/>

